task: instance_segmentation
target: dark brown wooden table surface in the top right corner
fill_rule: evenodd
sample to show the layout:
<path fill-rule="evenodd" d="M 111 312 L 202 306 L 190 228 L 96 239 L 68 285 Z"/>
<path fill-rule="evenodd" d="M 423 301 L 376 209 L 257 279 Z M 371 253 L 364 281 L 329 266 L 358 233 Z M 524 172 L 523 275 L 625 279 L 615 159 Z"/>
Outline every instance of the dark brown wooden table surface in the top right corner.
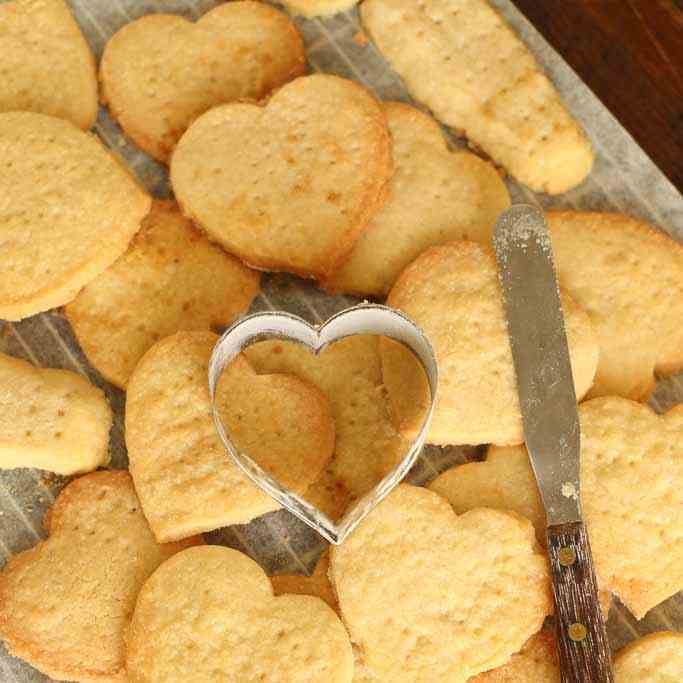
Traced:
<path fill-rule="evenodd" d="M 683 192 L 683 0 L 513 0 Z"/>

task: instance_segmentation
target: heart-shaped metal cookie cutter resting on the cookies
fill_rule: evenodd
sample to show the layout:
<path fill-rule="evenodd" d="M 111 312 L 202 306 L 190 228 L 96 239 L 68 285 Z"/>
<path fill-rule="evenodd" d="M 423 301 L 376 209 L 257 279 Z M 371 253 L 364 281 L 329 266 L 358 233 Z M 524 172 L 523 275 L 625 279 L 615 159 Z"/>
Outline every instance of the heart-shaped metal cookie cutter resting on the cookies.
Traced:
<path fill-rule="evenodd" d="M 427 378 L 430 405 L 420 430 L 408 452 L 372 491 L 358 500 L 339 522 L 330 519 L 301 496 L 284 488 L 248 453 L 238 449 L 230 438 L 216 405 L 218 381 L 226 366 L 247 347 L 260 341 L 280 339 L 306 346 L 314 355 L 346 337 L 371 334 L 388 337 L 407 347 L 418 360 Z M 319 327 L 285 312 L 256 313 L 232 325 L 218 340 L 209 361 L 209 392 L 218 435 L 232 461 L 259 488 L 283 507 L 315 529 L 330 543 L 339 545 L 363 518 L 406 476 L 422 450 L 434 412 L 439 371 L 434 350 L 427 337 L 406 316 L 387 306 L 362 304 L 332 316 Z"/>

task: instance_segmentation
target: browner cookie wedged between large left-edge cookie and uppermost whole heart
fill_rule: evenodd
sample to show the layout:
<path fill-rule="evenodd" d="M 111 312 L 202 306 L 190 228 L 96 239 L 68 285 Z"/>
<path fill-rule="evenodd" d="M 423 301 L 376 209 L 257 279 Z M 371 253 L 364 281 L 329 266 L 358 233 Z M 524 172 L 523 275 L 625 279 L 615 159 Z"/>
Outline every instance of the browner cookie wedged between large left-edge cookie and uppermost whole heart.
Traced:
<path fill-rule="evenodd" d="M 174 202 L 155 201 L 128 251 L 66 306 L 88 360 L 125 388 L 155 342 L 226 327 L 249 308 L 259 275 L 211 244 Z"/>

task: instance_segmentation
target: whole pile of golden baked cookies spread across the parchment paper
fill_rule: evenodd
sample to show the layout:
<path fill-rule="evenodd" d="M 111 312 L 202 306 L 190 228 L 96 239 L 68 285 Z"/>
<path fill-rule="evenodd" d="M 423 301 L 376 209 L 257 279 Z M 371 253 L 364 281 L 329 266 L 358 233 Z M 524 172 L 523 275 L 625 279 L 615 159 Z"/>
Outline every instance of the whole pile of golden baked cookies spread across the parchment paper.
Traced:
<path fill-rule="evenodd" d="M 356 2 L 284 4 L 314 17 Z M 80 475 L 47 538 L 0 573 L 0 638 L 53 679 L 560 681 L 490 241 L 505 176 L 561 195 L 594 153 L 488 0 L 364 0 L 360 16 L 413 104 L 307 74 L 295 24 L 265 2 L 138 18 L 99 72 L 65 0 L 0 4 L 0 318 L 63 307 L 125 391 L 128 471 L 107 469 L 100 388 L 0 354 L 0 468 Z M 168 167 L 173 200 L 88 132 L 98 98 Z M 622 214 L 548 222 L 603 607 L 616 596 L 641 619 L 683 589 L 683 409 L 644 405 L 683 369 L 683 247 Z M 488 448 L 400 485 L 311 577 L 269 579 L 202 536 L 279 508 L 228 460 L 206 381 L 261 271 L 405 312 L 439 362 L 427 441 Z M 318 357 L 261 342 L 218 389 L 237 445 L 332 517 L 402 459 L 427 400 L 407 351 L 366 335 Z M 638 640 L 615 671 L 683 679 L 683 635 Z"/>

